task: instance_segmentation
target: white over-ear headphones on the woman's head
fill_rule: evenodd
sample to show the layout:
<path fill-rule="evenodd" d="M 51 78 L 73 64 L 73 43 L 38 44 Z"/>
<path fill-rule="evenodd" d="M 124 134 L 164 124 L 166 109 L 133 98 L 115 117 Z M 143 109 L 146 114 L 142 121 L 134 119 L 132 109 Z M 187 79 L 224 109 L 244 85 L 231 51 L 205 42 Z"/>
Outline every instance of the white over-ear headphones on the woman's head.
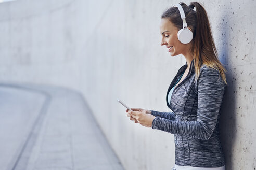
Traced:
<path fill-rule="evenodd" d="M 176 4 L 174 7 L 178 7 L 183 21 L 183 29 L 178 31 L 178 40 L 183 44 L 188 44 L 193 39 L 193 33 L 187 28 L 186 17 L 181 4 Z"/>

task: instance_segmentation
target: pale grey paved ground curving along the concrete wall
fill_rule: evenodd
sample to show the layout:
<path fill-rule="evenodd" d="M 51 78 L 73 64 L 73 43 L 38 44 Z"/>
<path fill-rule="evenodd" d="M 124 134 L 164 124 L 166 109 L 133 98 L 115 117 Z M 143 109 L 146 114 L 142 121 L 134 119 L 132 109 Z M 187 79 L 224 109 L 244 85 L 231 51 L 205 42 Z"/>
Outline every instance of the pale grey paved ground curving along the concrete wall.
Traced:
<path fill-rule="evenodd" d="M 83 96 L 0 84 L 1 169 L 123 169 Z"/>

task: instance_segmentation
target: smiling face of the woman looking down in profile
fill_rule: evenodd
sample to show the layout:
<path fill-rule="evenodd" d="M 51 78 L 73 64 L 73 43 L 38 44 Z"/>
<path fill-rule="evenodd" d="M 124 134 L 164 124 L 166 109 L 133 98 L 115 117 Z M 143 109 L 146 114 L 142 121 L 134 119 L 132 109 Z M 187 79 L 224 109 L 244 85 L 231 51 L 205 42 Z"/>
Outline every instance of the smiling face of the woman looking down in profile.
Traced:
<path fill-rule="evenodd" d="M 162 35 L 161 46 L 166 46 L 171 56 L 178 54 L 185 55 L 190 47 L 189 44 L 182 44 L 178 40 L 178 28 L 167 18 L 162 18 L 160 23 L 160 34 Z"/>

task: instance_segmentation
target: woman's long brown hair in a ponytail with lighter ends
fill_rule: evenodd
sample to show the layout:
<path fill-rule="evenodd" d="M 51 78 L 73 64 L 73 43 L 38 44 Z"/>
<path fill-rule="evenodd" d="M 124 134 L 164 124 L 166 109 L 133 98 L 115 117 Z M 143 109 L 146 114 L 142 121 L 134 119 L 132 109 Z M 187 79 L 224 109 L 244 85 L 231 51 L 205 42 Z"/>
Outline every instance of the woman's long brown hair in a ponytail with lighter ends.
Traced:
<path fill-rule="evenodd" d="M 195 80 L 199 77 L 201 65 L 205 64 L 208 67 L 219 70 L 220 76 L 227 84 L 225 76 L 226 69 L 217 57 L 218 53 L 212 38 L 211 27 L 206 10 L 198 2 L 191 2 L 189 6 L 182 2 L 180 4 L 186 16 L 187 27 L 193 32 L 193 39 L 191 41 L 192 46 L 190 50 L 194 56 L 194 66 L 196 70 Z M 194 8 L 196 8 L 196 11 Z M 179 30 L 183 28 L 180 11 L 178 11 L 177 7 L 167 9 L 162 14 L 161 18 L 169 19 L 169 21 L 171 21 Z"/>

